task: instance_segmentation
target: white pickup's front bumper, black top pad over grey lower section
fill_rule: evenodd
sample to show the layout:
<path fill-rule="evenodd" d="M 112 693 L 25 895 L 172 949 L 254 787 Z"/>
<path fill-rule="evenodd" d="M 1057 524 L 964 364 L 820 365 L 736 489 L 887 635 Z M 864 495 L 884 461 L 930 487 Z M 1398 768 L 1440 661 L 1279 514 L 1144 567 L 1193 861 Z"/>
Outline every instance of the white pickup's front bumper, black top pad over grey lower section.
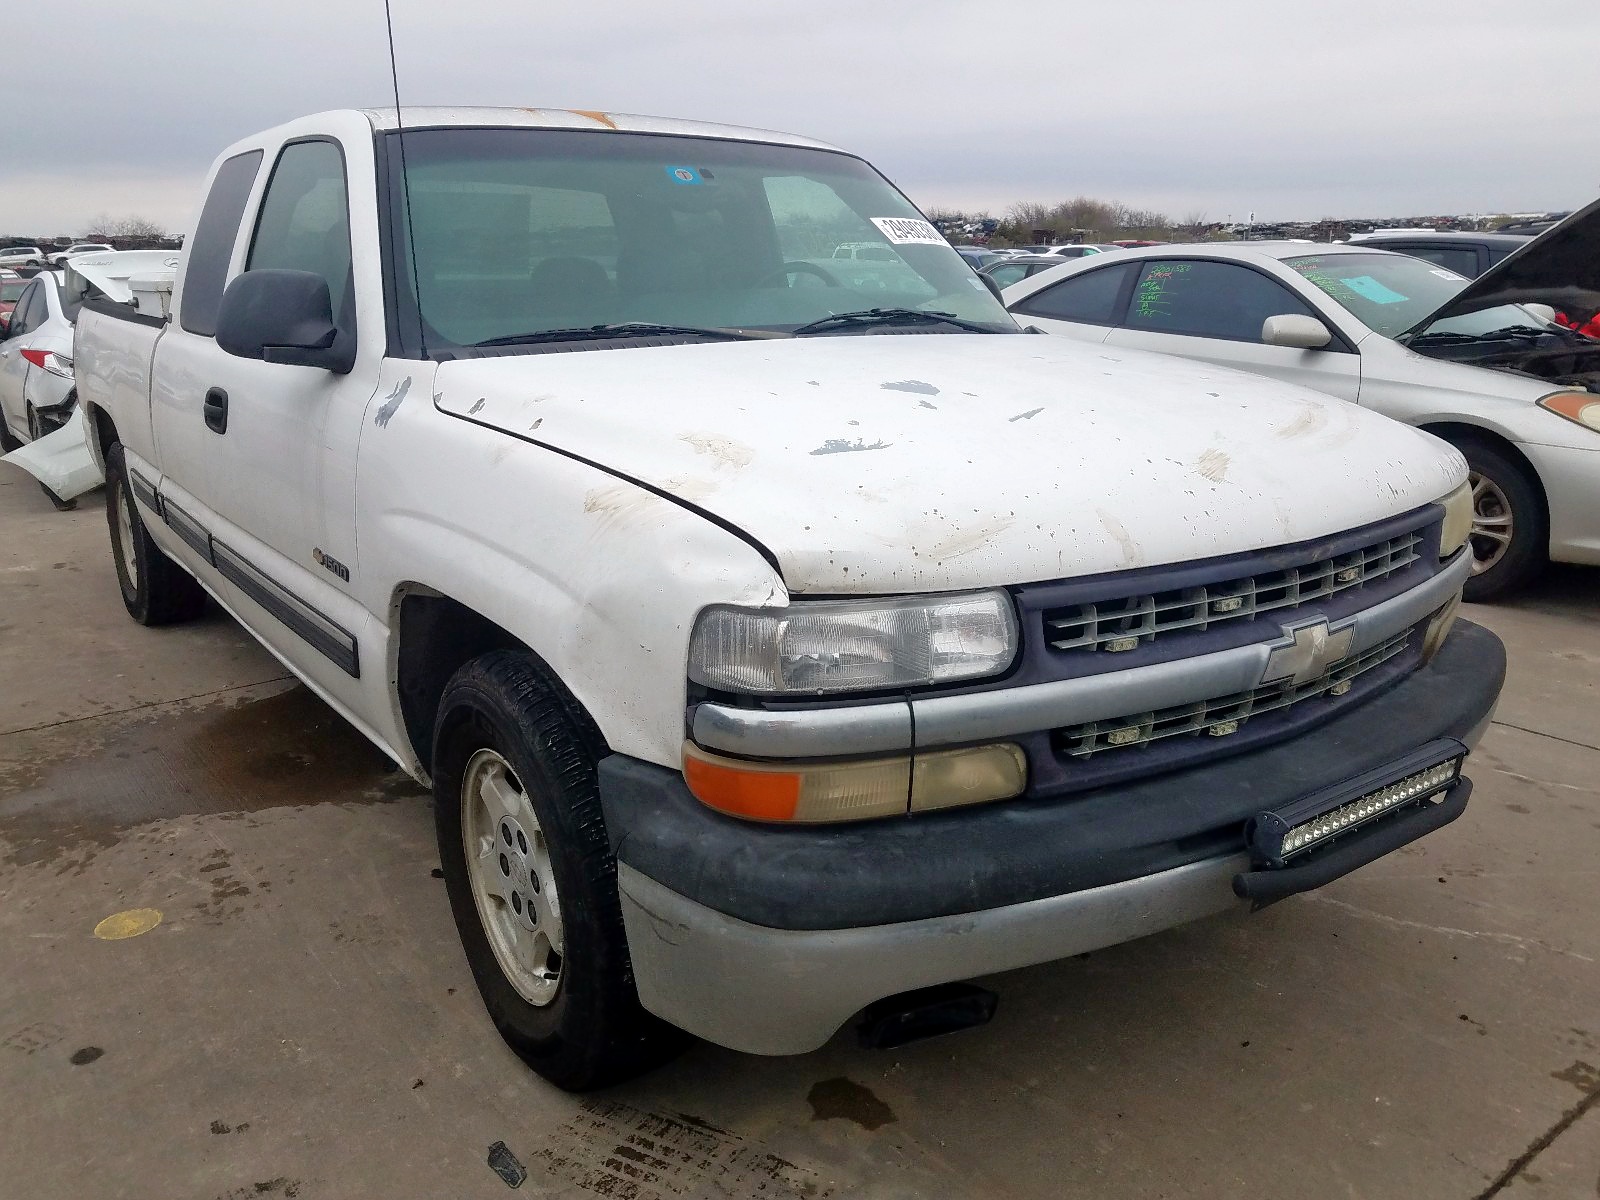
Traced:
<path fill-rule="evenodd" d="M 1302 736 L 1067 800 L 858 826 L 736 821 L 677 771 L 606 758 L 640 1000 L 734 1050 L 805 1053 L 882 997 L 1242 906 L 1254 813 L 1440 738 L 1474 746 L 1504 670 L 1499 640 L 1461 621 L 1427 667 Z"/>

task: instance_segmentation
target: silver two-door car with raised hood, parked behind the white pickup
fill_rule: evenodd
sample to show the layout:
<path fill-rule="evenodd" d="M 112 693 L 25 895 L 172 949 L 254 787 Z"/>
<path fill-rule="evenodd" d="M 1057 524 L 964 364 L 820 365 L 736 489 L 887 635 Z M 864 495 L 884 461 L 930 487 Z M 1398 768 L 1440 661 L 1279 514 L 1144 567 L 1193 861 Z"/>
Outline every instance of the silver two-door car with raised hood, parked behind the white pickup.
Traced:
<path fill-rule="evenodd" d="M 1600 341 L 1523 307 L 1600 306 L 1595 234 L 1600 205 L 1470 283 L 1360 245 L 1242 242 L 1077 259 L 1003 298 L 1024 326 L 1269 374 L 1454 443 L 1475 499 L 1467 597 L 1490 600 L 1547 560 L 1600 563 Z"/>

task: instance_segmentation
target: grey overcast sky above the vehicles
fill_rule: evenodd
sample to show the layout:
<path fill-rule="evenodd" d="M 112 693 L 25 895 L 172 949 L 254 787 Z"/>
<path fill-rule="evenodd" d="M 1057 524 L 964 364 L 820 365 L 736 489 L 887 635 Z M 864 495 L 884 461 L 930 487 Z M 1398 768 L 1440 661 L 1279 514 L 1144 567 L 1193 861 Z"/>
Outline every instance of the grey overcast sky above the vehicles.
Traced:
<path fill-rule="evenodd" d="M 405 104 L 611 109 L 862 154 L 923 208 L 1176 218 L 1576 208 L 1600 5 L 1456 0 L 392 0 Z M 187 229 L 227 142 L 392 102 L 382 0 L 22 0 L 0 234 Z M 43 21 L 48 8 L 50 21 Z"/>

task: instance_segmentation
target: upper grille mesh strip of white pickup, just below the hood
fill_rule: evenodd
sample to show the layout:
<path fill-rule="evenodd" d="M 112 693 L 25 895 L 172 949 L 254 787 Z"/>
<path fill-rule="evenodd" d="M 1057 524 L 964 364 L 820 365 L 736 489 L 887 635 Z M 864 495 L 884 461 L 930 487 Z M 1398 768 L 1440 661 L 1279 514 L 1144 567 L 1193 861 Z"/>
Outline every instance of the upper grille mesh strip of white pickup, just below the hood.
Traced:
<path fill-rule="evenodd" d="M 1064 605 L 1045 613 L 1045 638 L 1054 650 L 1136 650 L 1163 634 L 1202 632 L 1232 621 L 1250 621 L 1386 579 L 1418 562 L 1421 550 L 1422 531 L 1416 530 L 1301 566 L 1170 592 Z"/>

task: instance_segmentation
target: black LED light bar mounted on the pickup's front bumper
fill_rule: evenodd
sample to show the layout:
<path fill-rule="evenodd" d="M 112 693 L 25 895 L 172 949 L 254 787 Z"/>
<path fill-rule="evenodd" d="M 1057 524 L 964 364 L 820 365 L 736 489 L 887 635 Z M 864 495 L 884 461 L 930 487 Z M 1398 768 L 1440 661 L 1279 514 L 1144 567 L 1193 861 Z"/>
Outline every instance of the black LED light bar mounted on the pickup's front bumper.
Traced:
<path fill-rule="evenodd" d="M 1341 834 L 1448 792 L 1461 778 L 1466 757 L 1466 746 L 1443 738 L 1387 768 L 1368 771 L 1275 813 L 1258 813 L 1251 822 L 1251 850 L 1258 859 L 1282 867 Z"/>

